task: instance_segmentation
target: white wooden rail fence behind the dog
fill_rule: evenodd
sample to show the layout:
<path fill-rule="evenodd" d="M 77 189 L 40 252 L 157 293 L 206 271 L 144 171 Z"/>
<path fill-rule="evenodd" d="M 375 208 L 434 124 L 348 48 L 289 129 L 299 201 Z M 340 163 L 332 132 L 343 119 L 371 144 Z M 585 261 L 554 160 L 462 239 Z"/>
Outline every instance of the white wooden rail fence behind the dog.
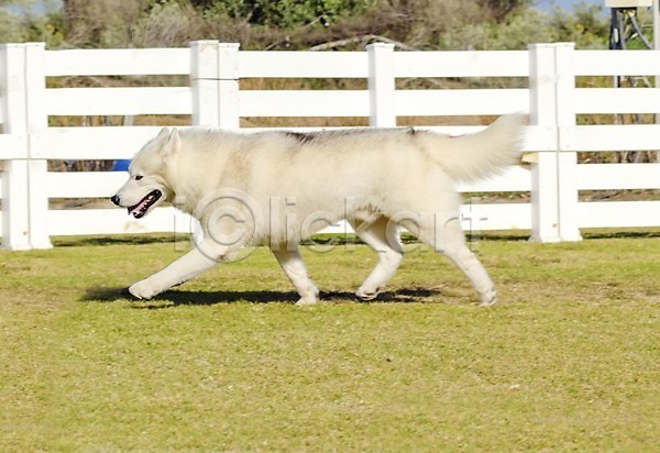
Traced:
<path fill-rule="evenodd" d="M 527 51 L 244 52 L 198 41 L 189 48 L 45 51 L 42 43 L 0 45 L 2 241 L 47 248 L 51 235 L 188 232 L 190 221 L 161 208 L 140 221 L 123 209 L 48 209 L 50 198 L 113 194 L 121 172 L 48 172 L 48 159 L 130 158 L 160 128 L 55 128 L 57 115 L 188 114 L 191 125 L 238 129 L 242 117 L 398 117 L 530 114 L 530 169 L 513 167 L 462 191 L 529 191 L 529 203 L 464 208 L 483 230 L 531 230 L 534 240 L 578 241 L 581 228 L 660 225 L 660 201 L 580 202 L 580 190 L 658 189 L 660 164 L 579 165 L 578 152 L 660 150 L 660 125 L 576 125 L 579 113 L 654 113 L 660 89 L 576 88 L 578 76 L 659 75 L 660 52 L 575 51 L 572 43 Z M 187 75 L 182 87 L 47 88 L 48 77 Z M 396 89 L 400 78 L 528 79 L 515 89 Z M 366 79 L 365 90 L 241 90 L 245 78 Z M 480 126 L 430 128 L 464 133 Z M 469 228 L 469 226 L 468 226 Z"/>

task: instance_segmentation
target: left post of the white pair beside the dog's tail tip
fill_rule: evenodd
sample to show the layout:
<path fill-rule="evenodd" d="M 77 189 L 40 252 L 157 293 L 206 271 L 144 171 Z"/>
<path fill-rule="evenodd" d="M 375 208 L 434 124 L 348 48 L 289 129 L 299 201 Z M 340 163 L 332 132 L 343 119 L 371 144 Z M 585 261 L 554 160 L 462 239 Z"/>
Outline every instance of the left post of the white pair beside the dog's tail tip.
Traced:
<path fill-rule="evenodd" d="M 557 129 L 554 45 L 530 44 L 528 52 L 529 123 Z M 559 143 L 554 148 L 559 148 Z M 531 168 L 531 241 L 561 241 L 558 178 L 557 151 L 538 153 L 538 162 Z"/>

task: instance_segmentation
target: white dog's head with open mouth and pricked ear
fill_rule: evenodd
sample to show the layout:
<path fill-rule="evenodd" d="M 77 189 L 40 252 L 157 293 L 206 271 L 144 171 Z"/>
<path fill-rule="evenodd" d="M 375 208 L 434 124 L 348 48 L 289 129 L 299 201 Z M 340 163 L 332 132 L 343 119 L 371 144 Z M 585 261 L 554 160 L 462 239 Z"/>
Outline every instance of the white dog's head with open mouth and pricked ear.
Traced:
<path fill-rule="evenodd" d="M 129 180 L 112 196 L 112 202 L 141 219 L 161 202 L 172 201 L 174 190 L 167 184 L 167 163 L 178 153 L 179 146 L 177 130 L 163 128 L 135 154 L 129 166 Z"/>

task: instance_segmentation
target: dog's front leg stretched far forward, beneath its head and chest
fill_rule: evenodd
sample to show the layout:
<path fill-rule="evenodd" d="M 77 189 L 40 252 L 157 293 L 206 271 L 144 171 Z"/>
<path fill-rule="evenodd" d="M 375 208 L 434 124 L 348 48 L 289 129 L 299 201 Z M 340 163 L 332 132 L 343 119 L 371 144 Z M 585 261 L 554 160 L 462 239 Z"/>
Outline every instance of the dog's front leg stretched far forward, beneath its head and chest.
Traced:
<path fill-rule="evenodd" d="M 164 269 L 131 285 L 129 292 L 139 299 L 151 299 L 155 295 L 210 269 L 219 262 L 224 261 L 227 254 L 227 247 L 219 246 L 213 241 L 204 241 Z"/>

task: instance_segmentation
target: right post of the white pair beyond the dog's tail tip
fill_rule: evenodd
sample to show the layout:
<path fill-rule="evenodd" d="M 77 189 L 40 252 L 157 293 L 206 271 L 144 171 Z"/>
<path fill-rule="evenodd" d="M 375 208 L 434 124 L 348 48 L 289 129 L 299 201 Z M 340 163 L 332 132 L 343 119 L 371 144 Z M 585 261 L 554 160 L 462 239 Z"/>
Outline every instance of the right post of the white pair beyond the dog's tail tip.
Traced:
<path fill-rule="evenodd" d="M 578 152 L 566 151 L 562 131 L 575 126 L 575 43 L 554 44 L 557 73 L 557 179 L 559 236 L 562 241 L 582 241 L 578 222 Z"/>

